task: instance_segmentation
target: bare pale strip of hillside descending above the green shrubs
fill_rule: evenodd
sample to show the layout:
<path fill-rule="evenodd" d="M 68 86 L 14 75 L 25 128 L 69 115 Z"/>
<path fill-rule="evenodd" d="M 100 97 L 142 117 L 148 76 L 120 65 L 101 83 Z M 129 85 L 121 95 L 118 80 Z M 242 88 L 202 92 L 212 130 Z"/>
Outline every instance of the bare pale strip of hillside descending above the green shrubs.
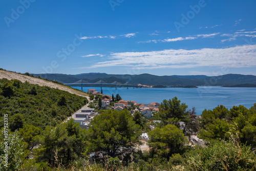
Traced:
<path fill-rule="evenodd" d="M 18 79 L 22 82 L 28 81 L 31 84 L 38 84 L 39 86 L 47 86 L 50 88 L 54 88 L 54 89 L 59 89 L 59 90 L 63 90 L 72 94 L 76 94 L 78 96 L 82 96 L 82 97 L 88 97 L 87 93 L 78 91 L 76 89 L 73 89 L 71 87 L 68 86 L 63 86 L 61 84 L 57 84 L 51 81 L 47 81 L 44 79 L 39 79 L 39 78 L 35 78 L 35 77 L 31 77 L 31 76 L 27 76 L 27 75 L 23 75 L 23 74 L 18 74 L 18 73 L 14 73 L 11 71 L 5 71 L 5 70 L 0 70 L 0 79 L 2 78 L 6 78 L 6 79 Z"/>

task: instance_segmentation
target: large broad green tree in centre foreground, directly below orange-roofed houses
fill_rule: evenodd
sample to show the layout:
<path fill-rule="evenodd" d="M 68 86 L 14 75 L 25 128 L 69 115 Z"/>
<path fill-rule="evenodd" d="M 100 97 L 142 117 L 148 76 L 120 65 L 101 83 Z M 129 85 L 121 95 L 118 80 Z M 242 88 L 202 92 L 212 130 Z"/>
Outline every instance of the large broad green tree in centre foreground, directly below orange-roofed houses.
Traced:
<path fill-rule="evenodd" d="M 131 151 L 141 131 L 126 110 L 104 111 L 95 117 L 88 130 L 88 152 L 114 157 Z"/>

